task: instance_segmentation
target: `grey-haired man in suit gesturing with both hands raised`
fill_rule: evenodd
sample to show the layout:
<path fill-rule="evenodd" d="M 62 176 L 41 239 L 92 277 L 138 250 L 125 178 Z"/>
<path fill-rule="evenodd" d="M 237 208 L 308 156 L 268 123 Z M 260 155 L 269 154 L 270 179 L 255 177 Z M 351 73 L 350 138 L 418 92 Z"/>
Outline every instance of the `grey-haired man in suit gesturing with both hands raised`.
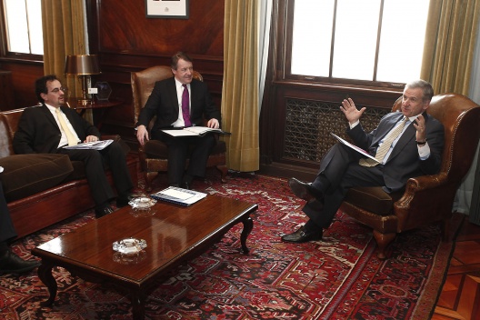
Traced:
<path fill-rule="evenodd" d="M 359 123 L 365 107 L 357 110 L 352 99 L 344 100 L 340 108 L 349 123 L 346 133 L 379 163 L 373 165 L 375 161 L 365 160 L 365 156 L 352 148 L 336 144 L 322 159 L 314 182 L 306 184 L 290 179 L 294 194 L 306 200 L 303 211 L 310 219 L 294 233 L 283 235 L 282 240 L 295 243 L 320 240 L 323 229 L 332 223 L 351 187 L 382 186 L 391 193 L 402 190 L 411 177 L 435 175 L 441 165 L 444 127 L 426 114 L 433 95 L 432 85 L 426 81 L 406 84 L 401 112 L 385 115 L 371 133 L 365 133 Z M 395 130 L 397 126 L 399 129 Z M 385 152 L 379 156 L 381 149 Z"/>

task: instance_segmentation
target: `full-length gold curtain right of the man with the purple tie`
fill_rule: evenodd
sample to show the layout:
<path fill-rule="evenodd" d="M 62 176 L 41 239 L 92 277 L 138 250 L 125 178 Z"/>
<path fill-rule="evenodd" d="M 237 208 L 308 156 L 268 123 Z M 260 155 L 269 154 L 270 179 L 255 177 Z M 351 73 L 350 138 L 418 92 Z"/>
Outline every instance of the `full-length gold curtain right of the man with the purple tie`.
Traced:
<path fill-rule="evenodd" d="M 225 1 L 223 127 L 227 165 L 240 172 L 259 169 L 258 5 Z"/>

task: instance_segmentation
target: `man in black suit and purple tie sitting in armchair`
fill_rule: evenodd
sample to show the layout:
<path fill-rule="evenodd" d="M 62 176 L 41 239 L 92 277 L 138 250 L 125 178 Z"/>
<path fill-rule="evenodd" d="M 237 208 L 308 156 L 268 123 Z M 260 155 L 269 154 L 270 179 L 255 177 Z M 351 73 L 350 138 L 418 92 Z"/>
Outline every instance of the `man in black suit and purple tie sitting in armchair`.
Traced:
<path fill-rule="evenodd" d="M 205 83 L 193 78 L 192 59 L 179 52 L 172 57 L 174 77 L 158 81 L 138 116 L 136 138 L 141 145 L 148 141 L 147 125 L 156 115 L 151 138 L 164 141 L 168 146 L 168 183 L 189 189 L 195 176 L 204 176 L 206 161 L 215 145 L 214 135 L 173 138 L 163 129 L 204 125 L 219 128 L 221 115 Z M 186 99 L 186 100 L 185 100 Z M 190 153 L 189 166 L 185 171 Z"/>

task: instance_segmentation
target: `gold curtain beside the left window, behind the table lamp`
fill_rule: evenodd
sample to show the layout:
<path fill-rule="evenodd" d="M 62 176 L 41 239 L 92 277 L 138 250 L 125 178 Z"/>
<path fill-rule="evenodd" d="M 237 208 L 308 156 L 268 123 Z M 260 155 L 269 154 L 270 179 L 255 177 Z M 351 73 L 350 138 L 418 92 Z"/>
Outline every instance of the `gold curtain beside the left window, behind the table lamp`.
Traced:
<path fill-rule="evenodd" d="M 65 75 L 65 57 L 87 54 L 84 0 L 42 0 L 42 24 L 45 75 L 56 75 L 68 95 L 80 96 L 77 77 Z"/>

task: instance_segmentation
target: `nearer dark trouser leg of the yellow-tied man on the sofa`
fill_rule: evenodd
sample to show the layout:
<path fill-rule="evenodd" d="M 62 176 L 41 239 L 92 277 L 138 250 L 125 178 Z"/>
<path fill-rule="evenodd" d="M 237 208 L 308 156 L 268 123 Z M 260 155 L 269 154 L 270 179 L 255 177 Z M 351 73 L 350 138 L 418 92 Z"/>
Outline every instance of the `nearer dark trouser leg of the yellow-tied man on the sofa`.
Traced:
<path fill-rule="evenodd" d="M 85 175 L 95 205 L 105 205 L 115 197 L 110 184 L 106 180 L 104 158 L 96 150 L 58 149 L 58 153 L 68 155 L 70 160 L 82 161 L 85 165 Z"/>

